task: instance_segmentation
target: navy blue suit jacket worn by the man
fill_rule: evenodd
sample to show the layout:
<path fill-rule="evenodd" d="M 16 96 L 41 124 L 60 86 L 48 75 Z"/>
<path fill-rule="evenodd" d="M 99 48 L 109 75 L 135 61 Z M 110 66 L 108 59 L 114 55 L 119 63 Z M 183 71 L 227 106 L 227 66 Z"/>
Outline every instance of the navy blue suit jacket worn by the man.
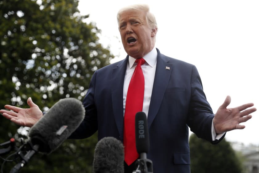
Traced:
<path fill-rule="evenodd" d="M 154 173 L 190 172 L 189 130 L 212 141 L 214 114 L 194 65 L 167 57 L 157 49 L 157 66 L 147 116 Z M 92 76 L 83 104 L 85 118 L 71 138 L 85 138 L 98 130 L 98 139 L 123 141 L 123 84 L 128 63 L 105 66 Z M 170 67 L 170 70 L 166 69 Z"/>

